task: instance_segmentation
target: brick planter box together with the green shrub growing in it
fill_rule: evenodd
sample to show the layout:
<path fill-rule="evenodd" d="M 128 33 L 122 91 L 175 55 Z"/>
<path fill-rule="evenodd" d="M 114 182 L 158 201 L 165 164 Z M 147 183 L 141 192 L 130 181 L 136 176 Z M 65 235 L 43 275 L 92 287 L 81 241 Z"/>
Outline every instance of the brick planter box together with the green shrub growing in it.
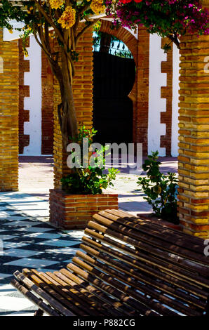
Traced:
<path fill-rule="evenodd" d="M 62 178 L 62 190 L 50 191 L 50 223 L 57 227 L 83 229 L 94 213 L 118 209 L 118 195 L 102 190 L 113 185 L 119 171 L 111 168 L 104 173 L 105 148 L 101 146 L 100 150 L 92 150 L 95 133 L 94 129 L 89 131 L 85 126 L 79 129 L 78 137 L 72 139 L 74 145 L 69 153 L 68 165 L 74 164 L 72 173 Z M 87 155 L 84 149 L 88 150 Z M 92 156 L 95 166 L 89 161 Z M 85 166 L 86 161 L 88 166 Z"/>

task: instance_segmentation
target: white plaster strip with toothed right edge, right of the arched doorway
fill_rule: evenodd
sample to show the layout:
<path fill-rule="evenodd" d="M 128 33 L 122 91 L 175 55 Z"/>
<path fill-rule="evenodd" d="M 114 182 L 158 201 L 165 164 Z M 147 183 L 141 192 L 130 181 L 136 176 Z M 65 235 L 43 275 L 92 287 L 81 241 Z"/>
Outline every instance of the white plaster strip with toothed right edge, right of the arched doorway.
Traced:
<path fill-rule="evenodd" d="M 167 74 L 161 73 L 161 62 L 165 60 L 161 37 L 150 34 L 148 153 L 158 150 L 162 157 L 166 156 L 166 148 L 160 147 L 161 136 L 166 134 L 166 124 L 161 124 L 161 112 L 166 112 L 166 99 L 161 98 L 161 87 L 167 85 Z"/>

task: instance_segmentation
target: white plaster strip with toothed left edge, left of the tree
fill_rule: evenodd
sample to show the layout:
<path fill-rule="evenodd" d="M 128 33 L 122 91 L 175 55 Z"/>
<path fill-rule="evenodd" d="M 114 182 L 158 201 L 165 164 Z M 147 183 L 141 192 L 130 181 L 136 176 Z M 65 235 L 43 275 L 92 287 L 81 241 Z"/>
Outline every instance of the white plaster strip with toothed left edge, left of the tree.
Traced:
<path fill-rule="evenodd" d="M 24 110 L 29 110 L 29 121 L 24 123 L 24 133 L 29 135 L 29 145 L 24 155 L 41 155 L 41 47 L 34 37 L 30 37 L 29 72 L 25 72 L 24 82 L 29 85 L 29 98 L 24 100 Z"/>

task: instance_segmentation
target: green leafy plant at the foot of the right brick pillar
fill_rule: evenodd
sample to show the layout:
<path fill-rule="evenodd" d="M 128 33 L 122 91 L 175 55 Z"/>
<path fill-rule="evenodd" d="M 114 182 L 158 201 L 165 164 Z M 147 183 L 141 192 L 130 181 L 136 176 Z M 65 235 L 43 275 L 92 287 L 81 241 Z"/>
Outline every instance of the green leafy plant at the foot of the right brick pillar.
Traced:
<path fill-rule="evenodd" d="M 147 177 L 140 177 L 137 184 L 140 190 L 147 196 L 144 199 L 151 205 L 156 216 L 179 223 L 177 218 L 177 176 L 168 172 L 168 175 L 161 173 L 158 161 L 159 152 L 152 152 L 144 161 L 143 170 Z"/>

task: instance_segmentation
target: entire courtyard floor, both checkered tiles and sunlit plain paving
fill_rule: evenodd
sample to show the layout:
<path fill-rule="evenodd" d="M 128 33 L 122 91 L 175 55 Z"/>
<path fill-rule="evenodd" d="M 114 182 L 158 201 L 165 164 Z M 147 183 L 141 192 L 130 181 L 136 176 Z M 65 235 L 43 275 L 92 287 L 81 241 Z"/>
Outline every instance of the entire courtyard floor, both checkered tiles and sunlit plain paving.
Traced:
<path fill-rule="evenodd" d="M 161 170 L 177 172 L 177 159 L 165 158 Z M 36 307 L 9 283 L 15 270 L 43 272 L 65 268 L 79 249 L 83 231 L 60 231 L 48 223 L 48 190 L 53 188 L 51 157 L 20 157 L 20 191 L 0 193 L 0 316 L 33 315 Z M 121 169 L 112 190 L 119 208 L 130 213 L 150 213 L 138 175 Z"/>

